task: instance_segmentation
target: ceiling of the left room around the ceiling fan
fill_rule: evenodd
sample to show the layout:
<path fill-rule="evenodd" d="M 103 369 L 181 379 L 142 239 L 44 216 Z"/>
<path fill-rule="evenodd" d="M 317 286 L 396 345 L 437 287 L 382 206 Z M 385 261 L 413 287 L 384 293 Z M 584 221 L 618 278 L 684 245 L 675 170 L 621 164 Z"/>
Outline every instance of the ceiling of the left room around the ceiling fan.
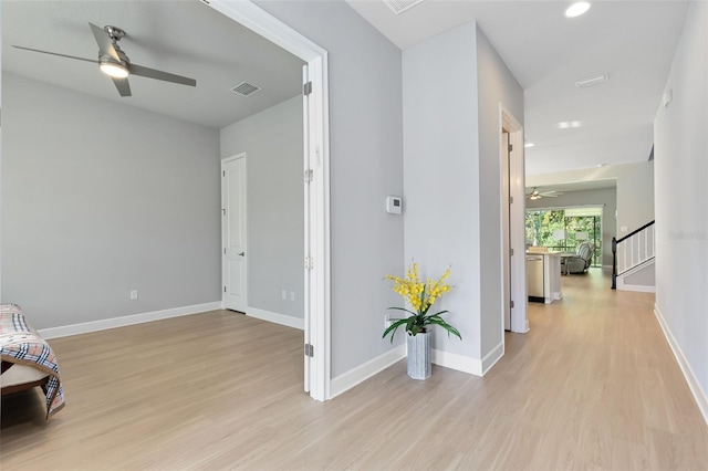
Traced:
<path fill-rule="evenodd" d="M 132 63 L 197 80 L 196 87 L 138 76 L 121 97 L 96 64 L 12 44 L 97 59 L 88 22 L 122 28 Z M 2 70 L 117 103 L 221 128 L 301 94 L 303 62 L 194 1 L 2 1 Z M 262 90 L 243 97 L 241 82 Z"/>

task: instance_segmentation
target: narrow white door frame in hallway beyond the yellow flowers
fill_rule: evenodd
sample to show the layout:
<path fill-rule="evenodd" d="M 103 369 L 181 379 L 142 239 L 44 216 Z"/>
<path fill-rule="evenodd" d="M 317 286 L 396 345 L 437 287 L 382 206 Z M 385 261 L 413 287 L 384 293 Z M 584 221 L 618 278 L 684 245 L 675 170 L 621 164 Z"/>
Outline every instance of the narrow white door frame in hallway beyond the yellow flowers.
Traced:
<path fill-rule="evenodd" d="M 513 116 L 513 114 L 499 104 L 499 158 L 504 157 L 502 129 L 509 133 L 509 143 L 513 149 L 509 153 L 509 195 L 513 198 L 513 202 L 509 206 L 509 248 L 513 250 L 514 257 L 508 265 L 502 266 L 500 280 L 504 285 L 504 276 L 509 276 L 511 282 L 511 300 L 514 302 L 511 308 L 511 332 L 525 333 L 529 332 L 529 320 L 527 316 L 527 258 L 525 258 L 525 166 L 523 153 L 523 126 Z M 500 166 L 501 167 L 501 166 Z M 499 178 L 506 178 L 500 171 Z M 500 181 L 501 182 L 501 181 Z M 503 185 L 501 185 L 503 187 Z M 503 200 L 503 196 L 500 198 Z M 500 208 L 501 209 L 501 208 Z M 503 211 L 502 211 L 503 214 Z M 503 226 L 502 226 L 503 229 Z M 504 250 L 502 243 L 501 250 Z M 508 250 L 508 249 L 507 249 Z M 507 252 L 508 253 L 508 252 Z M 518 254 L 519 257 L 516 257 Z M 501 263 L 504 265 L 504 257 L 502 253 Z M 508 293 L 502 290 L 502 306 L 506 302 Z M 501 310 L 501 337 L 504 338 L 504 312 Z"/>

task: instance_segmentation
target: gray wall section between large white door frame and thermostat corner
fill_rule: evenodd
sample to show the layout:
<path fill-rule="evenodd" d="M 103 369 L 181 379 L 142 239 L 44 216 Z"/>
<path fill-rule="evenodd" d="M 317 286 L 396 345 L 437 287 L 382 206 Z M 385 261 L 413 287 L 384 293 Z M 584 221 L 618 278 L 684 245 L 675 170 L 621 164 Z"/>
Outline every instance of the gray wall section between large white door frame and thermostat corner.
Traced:
<path fill-rule="evenodd" d="M 384 315 L 399 301 L 383 276 L 404 270 L 403 218 L 384 202 L 403 193 L 400 51 L 344 1 L 257 3 L 329 53 L 336 377 L 392 348 Z"/>

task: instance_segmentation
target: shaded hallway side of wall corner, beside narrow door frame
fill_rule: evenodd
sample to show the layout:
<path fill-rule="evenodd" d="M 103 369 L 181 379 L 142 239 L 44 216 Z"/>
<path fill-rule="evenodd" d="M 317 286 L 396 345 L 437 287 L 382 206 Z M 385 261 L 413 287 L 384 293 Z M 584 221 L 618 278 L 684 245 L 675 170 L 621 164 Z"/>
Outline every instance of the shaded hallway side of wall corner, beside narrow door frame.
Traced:
<path fill-rule="evenodd" d="M 501 150 L 499 104 L 523 126 L 523 88 L 477 28 L 479 96 L 479 228 L 481 357 L 503 341 Z M 523 227 L 520 223 L 519 227 Z M 520 237 L 523 238 L 521 234 Z M 485 368 L 488 365 L 483 365 Z"/>

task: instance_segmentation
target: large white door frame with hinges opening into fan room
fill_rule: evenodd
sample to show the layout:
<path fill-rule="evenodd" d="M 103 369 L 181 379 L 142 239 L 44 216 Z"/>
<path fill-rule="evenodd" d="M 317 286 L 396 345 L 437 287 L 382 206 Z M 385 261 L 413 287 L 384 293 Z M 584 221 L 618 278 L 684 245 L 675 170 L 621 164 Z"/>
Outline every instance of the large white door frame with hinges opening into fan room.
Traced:
<path fill-rule="evenodd" d="M 304 338 L 313 355 L 304 355 L 305 391 L 330 399 L 331 383 L 331 259 L 330 259 L 330 115 L 327 52 L 251 1 L 201 0 L 206 6 L 278 44 L 306 62 L 303 172 L 305 185 Z M 304 177 L 303 177 L 304 181 Z"/>

